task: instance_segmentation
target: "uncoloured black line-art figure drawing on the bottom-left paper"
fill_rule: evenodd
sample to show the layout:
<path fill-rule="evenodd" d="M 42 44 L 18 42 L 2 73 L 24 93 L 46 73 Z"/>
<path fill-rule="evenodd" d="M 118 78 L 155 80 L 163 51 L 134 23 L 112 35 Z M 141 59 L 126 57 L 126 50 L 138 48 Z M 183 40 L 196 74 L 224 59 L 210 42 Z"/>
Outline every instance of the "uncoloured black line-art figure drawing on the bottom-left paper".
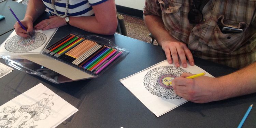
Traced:
<path fill-rule="evenodd" d="M 51 114 L 53 95 L 41 99 L 32 105 L 22 105 L 19 109 L 16 106 L 6 106 L 0 112 L 0 128 L 35 128 L 35 121 L 44 120 Z"/>

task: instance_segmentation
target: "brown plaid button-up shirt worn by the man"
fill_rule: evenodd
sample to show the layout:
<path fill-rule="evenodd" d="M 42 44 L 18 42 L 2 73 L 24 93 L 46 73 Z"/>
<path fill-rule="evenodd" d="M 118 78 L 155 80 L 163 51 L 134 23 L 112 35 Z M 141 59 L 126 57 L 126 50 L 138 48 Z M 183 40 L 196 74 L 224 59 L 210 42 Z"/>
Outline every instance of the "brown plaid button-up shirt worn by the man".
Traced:
<path fill-rule="evenodd" d="M 242 68 L 256 60 L 256 28 L 250 26 L 255 8 L 256 0 L 209 0 L 203 21 L 190 24 L 188 0 L 146 0 L 143 14 L 161 17 L 170 35 L 186 43 L 193 56 Z M 224 34 L 221 27 L 244 31 Z"/>

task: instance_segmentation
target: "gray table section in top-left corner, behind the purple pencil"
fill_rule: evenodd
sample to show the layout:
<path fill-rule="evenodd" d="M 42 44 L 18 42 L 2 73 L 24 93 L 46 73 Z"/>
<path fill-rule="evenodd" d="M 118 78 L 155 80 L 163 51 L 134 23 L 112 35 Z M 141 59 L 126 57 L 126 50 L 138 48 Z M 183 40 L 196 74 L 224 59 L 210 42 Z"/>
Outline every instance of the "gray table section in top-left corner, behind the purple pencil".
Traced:
<path fill-rule="evenodd" d="M 1 2 L 0 15 L 3 15 L 5 18 L 0 20 L 0 35 L 13 30 L 13 25 L 15 24 L 15 22 L 17 22 L 17 20 L 9 10 L 8 6 L 11 7 L 12 11 L 15 13 L 19 20 L 22 20 L 26 13 L 26 5 L 17 3 L 12 0 L 5 0 Z"/>

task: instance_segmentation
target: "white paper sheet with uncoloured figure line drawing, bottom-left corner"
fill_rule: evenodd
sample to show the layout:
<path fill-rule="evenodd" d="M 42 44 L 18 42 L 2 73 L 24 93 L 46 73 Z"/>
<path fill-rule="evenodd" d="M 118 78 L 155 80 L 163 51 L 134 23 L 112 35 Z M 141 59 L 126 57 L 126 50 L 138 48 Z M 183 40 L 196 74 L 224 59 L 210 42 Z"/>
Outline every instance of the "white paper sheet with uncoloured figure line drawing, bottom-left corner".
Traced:
<path fill-rule="evenodd" d="M 4 128 L 54 128 L 78 110 L 43 84 L 0 106 Z"/>

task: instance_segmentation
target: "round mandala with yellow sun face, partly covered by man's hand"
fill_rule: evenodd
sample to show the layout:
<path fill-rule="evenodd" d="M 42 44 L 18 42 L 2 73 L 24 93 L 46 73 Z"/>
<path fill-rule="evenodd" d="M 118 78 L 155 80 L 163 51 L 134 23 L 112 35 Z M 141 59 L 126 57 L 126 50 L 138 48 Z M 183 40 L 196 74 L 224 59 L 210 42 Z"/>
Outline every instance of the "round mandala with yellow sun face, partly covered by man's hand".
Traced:
<path fill-rule="evenodd" d="M 149 71 L 144 77 L 144 85 L 150 93 L 166 99 L 180 99 L 182 97 L 174 93 L 172 85 L 169 84 L 175 77 L 187 72 L 185 69 L 174 66 L 157 67 Z"/>

